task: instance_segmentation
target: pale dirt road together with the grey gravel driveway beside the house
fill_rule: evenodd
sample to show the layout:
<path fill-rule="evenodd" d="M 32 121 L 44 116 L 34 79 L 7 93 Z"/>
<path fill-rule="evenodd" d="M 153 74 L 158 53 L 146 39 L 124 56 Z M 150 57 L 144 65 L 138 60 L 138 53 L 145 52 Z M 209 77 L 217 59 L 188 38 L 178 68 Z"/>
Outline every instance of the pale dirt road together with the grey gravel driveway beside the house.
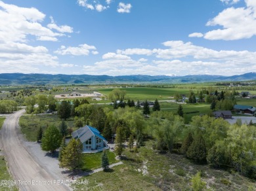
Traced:
<path fill-rule="evenodd" d="M 24 111 L 7 116 L 0 131 L 0 148 L 16 184 L 20 190 L 71 190 L 66 182 L 60 182 L 66 177 L 58 169 L 56 158 L 45 156 L 37 143 L 24 143 L 18 126 Z"/>

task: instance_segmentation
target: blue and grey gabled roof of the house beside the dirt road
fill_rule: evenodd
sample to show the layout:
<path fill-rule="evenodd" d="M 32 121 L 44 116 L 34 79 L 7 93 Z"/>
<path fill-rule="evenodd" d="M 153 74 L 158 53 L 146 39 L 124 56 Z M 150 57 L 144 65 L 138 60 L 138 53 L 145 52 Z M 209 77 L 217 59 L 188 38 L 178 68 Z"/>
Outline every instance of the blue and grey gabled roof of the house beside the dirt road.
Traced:
<path fill-rule="evenodd" d="M 81 143 L 84 143 L 93 136 L 96 136 L 106 141 L 106 139 L 102 135 L 100 135 L 100 131 L 91 126 L 84 126 L 83 128 L 79 128 L 72 133 L 72 137 L 74 139 L 80 139 Z"/>

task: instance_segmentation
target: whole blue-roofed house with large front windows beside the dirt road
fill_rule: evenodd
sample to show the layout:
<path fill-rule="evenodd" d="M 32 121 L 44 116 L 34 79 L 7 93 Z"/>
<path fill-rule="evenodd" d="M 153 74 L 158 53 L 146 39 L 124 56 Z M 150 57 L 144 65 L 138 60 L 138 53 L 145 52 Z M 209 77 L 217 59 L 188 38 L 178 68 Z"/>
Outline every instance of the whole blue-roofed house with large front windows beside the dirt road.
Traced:
<path fill-rule="evenodd" d="M 83 152 L 100 152 L 108 149 L 108 141 L 100 132 L 91 126 L 84 126 L 72 133 L 74 139 L 79 139 L 83 145 Z"/>

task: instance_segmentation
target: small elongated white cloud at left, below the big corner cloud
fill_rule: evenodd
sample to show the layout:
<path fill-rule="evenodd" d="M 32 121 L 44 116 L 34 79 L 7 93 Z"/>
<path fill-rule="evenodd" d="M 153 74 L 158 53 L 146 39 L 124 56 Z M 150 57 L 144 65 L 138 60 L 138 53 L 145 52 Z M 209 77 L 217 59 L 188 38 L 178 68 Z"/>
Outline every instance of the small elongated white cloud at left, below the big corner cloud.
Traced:
<path fill-rule="evenodd" d="M 95 46 L 89 46 L 88 44 L 79 44 L 78 47 L 69 46 L 66 48 L 65 46 L 61 46 L 58 50 L 54 51 L 56 54 L 60 55 L 73 55 L 73 56 L 88 56 L 91 50 L 96 50 Z M 93 54 L 95 54 L 94 52 Z"/>

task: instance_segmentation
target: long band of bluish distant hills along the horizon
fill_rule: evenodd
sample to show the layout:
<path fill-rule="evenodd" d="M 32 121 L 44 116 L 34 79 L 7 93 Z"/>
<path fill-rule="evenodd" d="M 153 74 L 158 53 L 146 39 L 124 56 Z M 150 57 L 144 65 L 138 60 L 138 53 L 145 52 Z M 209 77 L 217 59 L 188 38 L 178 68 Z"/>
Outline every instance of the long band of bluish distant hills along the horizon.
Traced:
<path fill-rule="evenodd" d="M 127 75 L 111 77 L 107 75 L 47 75 L 47 74 L 0 74 L 0 85 L 18 84 L 131 84 L 131 83 L 185 83 L 256 80 L 256 73 L 245 73 L 224 77 L 220 75 L 187 75 L 169 77 L 164 75 Z"/>

